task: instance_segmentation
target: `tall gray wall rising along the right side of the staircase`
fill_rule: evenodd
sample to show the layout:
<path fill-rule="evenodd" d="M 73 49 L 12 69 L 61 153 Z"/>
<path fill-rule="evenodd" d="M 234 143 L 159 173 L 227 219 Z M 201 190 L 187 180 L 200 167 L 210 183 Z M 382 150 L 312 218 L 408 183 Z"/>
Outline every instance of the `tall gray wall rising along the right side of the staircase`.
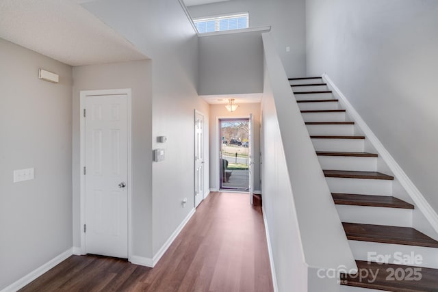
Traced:
<path fill-rule="evenodd" d="M 438 211 L 438 2 L 307 0 L 307 72 L 327 72 Z"/>

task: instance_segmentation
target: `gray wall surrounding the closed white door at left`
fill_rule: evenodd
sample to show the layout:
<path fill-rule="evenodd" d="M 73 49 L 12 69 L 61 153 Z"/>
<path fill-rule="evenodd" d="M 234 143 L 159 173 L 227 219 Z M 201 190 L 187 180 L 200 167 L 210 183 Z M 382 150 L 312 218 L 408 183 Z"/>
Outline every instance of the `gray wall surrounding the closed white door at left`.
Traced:
<path fill-rule="evenodd" d="M 132 254 L 152 256 L 152 64 L 151 61 L 73 68 L 73 245 L 81 245 L 79 109 L 80 90 L 131 88 Z"/>

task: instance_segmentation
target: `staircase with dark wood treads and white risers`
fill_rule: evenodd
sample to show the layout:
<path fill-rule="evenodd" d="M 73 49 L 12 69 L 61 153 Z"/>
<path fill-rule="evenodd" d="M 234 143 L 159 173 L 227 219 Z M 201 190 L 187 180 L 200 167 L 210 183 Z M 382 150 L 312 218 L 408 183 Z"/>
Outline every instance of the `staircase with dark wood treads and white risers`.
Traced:
<path fill-rule="evenodd" d="M 412 228 L 394 176 L 376 171 L 383 161 L 321 77 L 289 82 L 359 268 L 341 291 L 438 291 L 438 241 Z"/>

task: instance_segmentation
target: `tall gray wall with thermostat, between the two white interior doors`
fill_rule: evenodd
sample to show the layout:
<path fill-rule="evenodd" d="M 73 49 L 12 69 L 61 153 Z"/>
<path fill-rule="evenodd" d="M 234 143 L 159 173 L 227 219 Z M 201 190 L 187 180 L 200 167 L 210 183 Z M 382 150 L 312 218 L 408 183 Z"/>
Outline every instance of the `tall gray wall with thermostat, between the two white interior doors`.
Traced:
<path fill-rule="evenodd" d="M 198 38 L 177 0 L 105 0 L 83 7 L 152 59 L 151 146 L 166 150 L 166 159 L 152 164 L 155 255 L 194 206 L 194 109 L 208 120 L 208 105 L 196 92 Z M 159 135 L 168 142 L 157 143 Z M 208 168 L 205 172 L 208 179 Z"/>

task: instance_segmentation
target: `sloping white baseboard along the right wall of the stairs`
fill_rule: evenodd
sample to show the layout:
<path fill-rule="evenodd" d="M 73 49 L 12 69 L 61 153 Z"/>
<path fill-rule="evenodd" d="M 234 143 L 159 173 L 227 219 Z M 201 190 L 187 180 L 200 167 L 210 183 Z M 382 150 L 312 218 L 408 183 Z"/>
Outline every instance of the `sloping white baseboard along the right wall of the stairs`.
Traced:
<path fill-rule="evenodd" d="M 400 168 L 400 165 L 396 162 L 396 160 L 389 154 L 386 150 L 385 146 L 378 140 L 376 135 L 371 131 L 370 127 L 365 123 L 365 121 L 361 118 L 359 113 L 355 110 L 354 107 L 350 104 L 348 99 L 342 94 L 341 90 L 336 87 L 335 83 L 330 79 L 330 77 L 324 73 L 322 78 L 326 81 L 329 88 L 333 91 L 333 94 L 342 101 L 342 104 L 347 110 L 348 114 L 355 120 L 356 124 L 361 128 L 365 136 L 370 140 L 371 144 L 376 148 L 378 154 L 382 157 L 382 159 L 387 163 L 391 172 L 393 172 L 394 176 L 400 181 L 400 184 L 407 191 L 409 196 L 411 196 L 415 205 L 417 205 L 418 209 L 423 213 L 426 220 L 430 223 L 430 225 L 435 229 L 438 233 L 438 214 L 435 212 L 432 206 L 427 202 L 426 198 L 424 198 L 423 194 L 420 192 L 417 187 L 413 184 L 411 179 L 407 176 L 407 174 Z"/>

